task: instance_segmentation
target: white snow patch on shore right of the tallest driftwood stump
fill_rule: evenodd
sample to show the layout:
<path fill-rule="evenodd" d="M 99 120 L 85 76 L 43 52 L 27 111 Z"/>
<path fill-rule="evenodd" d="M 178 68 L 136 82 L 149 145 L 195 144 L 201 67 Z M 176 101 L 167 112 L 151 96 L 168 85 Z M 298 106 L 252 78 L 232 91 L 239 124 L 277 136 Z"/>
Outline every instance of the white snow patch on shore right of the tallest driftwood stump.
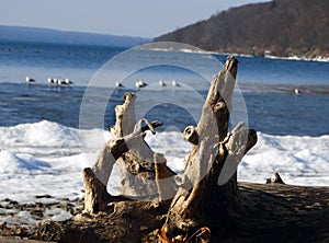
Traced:
<path fill-rule="evenodd" d="M 273 136 L 258 132 L 257 146 L 239 165 L 240 181 L 264 182 L 279 172 L 287 184 L 329 186 L 329 136 Z"/>

